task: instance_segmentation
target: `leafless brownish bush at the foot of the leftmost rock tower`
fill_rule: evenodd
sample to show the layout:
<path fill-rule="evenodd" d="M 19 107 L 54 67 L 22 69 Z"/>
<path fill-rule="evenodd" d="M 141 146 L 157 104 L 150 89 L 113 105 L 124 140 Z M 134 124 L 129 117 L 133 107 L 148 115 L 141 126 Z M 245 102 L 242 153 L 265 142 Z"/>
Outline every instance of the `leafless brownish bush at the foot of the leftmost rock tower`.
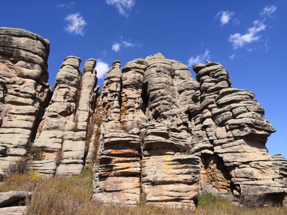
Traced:
<path fill-rule="evenodd" d="M 21 157 L 16 159 L 15 161 L 11 161 L 9 165 L 4 168 L 4 173 L 11 176 L 13 174 L 24 174 L 28 173 L 30 165 L 30 158 L 29 157 Z"/>

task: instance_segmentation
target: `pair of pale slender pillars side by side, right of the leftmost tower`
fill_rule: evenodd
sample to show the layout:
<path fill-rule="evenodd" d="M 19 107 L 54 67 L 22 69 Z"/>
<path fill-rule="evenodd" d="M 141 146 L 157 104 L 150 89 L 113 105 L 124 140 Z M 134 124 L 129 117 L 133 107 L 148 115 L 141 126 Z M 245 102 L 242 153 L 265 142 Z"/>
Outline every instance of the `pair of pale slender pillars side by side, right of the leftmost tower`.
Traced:
<path fill-rule="evenodd" d="M 39 125 L 35 146 L 45 151 L 45 160 L 33 163 L 40 173 L 73 175 L 83 168 L 87 127 L 97 95 L 95 59 L 78 70 L 81 60 L 68 56 L 55 80 L 54 93 Z"/>

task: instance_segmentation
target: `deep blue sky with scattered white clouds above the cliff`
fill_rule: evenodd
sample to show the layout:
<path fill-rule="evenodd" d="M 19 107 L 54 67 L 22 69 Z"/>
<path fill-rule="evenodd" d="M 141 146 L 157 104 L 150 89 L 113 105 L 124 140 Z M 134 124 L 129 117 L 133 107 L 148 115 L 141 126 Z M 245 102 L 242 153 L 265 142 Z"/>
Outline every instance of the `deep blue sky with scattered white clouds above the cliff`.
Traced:
<path fill-rule="evenodd" d="M 98 60 L 98 85 L 116 59 L 122 67 L 161 52 L 190 66 L 209 59 L 248 89 L 277 130 L 267 148 L 287 158 L 287 2 L 278 1 L 5 1 L 1 27 L 30 30 L 51 42 L 50 85 L 63 60 Z"/>

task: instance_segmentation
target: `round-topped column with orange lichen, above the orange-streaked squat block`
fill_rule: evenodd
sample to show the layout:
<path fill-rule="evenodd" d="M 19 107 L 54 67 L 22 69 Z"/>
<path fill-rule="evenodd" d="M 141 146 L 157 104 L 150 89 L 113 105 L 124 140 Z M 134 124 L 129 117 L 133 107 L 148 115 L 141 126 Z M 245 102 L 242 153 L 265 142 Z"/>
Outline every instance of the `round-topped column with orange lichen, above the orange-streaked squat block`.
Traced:
<path fill-rule="evenodd" d="M 144 72 L 148 64 L 144 59 L 135 59 L 128 62 L 122 69 L 122 106 L 121 122 L 132 126 L 136 122 L 146 122 L 143 112 L 142 87 Z"/>

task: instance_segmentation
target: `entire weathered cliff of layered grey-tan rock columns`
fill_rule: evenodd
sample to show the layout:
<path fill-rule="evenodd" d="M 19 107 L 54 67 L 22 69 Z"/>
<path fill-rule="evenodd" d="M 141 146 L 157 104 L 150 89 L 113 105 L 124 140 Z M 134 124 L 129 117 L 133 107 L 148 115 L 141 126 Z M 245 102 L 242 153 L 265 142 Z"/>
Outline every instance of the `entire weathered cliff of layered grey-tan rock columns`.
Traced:
<path fill-rule="evenodd" d="M 198 193 L 265 195 L 286 203 L 287 161 L 268 155 L 275 132 L 254 93 L 233 88 L 219 63 L 161 53 L 113 62 L 98 93 L 96 60 L 68 56 L 48 88 L 49 41 L 0 28 L 0 167 L 29 140 L 45 152 L 32 166 L 73 175 L 94 163 L 102 203 L 192 206 Z"/>

